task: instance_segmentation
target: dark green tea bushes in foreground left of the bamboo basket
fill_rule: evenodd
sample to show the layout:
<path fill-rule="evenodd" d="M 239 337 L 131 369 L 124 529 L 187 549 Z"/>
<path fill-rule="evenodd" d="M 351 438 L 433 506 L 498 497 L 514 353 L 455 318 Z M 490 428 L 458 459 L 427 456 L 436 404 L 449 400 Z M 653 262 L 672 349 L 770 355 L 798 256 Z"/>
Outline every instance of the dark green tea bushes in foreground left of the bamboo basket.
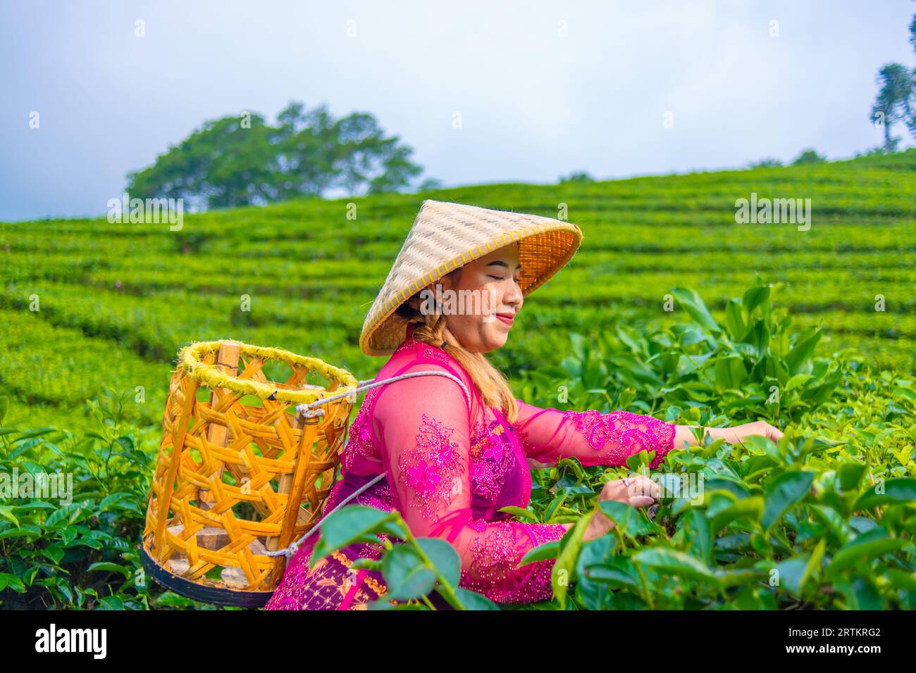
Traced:
<path fill-rule="evenodd" d="M 80 435 L 0 427 L 0 609 L 212 609 L 150 586 L 140 565 L 159 436 L 131 418 L 132 397 L 89 401 L 95 429 Z M 39 475 L 62 484 L 40 492 Z"/>

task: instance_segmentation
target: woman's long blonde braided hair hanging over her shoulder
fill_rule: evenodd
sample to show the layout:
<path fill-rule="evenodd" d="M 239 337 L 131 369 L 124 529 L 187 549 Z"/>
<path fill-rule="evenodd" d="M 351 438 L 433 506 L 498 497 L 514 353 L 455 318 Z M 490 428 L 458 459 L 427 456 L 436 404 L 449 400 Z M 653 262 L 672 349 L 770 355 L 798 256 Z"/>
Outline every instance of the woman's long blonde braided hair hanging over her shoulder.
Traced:
<path fill-rule="evenodd" d="M 447 276 L 453 277 L 453 280 L 456 281 L 455 275 L 460 272 L 461 268 L 457 268 Z M 498 407 L 509 423 L 515 423 L 518 418 L 518 404 L 509 388 L 506 376 L 493 364 L 490 364 L 484 353 L 471 353 L 461 343 L 447 342 L 443 347 L 442 332 L 445 330 L 445 315 L 438 312 L 421 312 L 420 292 L 404 302 L 397 310 L 398 315 L 415 323 L 413 338 L 418 342 L 443 348 L 446 353 L 452 355 L 471 377 L 485 406 Z"/>

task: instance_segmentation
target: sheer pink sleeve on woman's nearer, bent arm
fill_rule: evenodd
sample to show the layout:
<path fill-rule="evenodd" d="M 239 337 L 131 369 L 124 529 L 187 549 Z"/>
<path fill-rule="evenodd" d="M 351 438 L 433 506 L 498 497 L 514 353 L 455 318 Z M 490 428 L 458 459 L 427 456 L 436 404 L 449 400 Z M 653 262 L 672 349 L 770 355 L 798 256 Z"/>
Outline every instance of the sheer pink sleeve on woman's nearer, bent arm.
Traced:
<path fill-rule="evenodd" d="M 414 364 L 407 371 L 437 369 L 457 375 L 446 364 Z M 414 536 L 442 537 L 457 550 L 459 586 L 494 602 L 549 600 L 554 559 L 521 567 L 518 561 L 566 529 L 473 516 L 471 418 L 462 388 L 443 376 L 403 379 L 379 396 L 376 419 L 393 501 Z"/>

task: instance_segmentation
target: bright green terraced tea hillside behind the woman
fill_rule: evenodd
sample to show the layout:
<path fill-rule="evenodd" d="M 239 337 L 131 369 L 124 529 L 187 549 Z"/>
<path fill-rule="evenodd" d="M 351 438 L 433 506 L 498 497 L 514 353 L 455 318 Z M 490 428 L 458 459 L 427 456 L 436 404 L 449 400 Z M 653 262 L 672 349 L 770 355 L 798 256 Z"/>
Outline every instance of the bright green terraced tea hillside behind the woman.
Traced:
<path fill-rule="evenodd" d="M 811 229 L 736 223 L 735 202 L 751 192 L 811 199 Z M 359 331 L 424 198 L 551 217 L 565 203 L 583 229 L 580 252 L 527 299 L 496 353 L 509 374 L 559 362 L 570 331 L 675 320 L 678 309 L 662 304 L 676 286 L 695 288 L 716 315 L 755 274 L 780 284 L 774 301 L 797 324 L 823 324 L 822 349 L 856 347 L 916 370 L 911 149 L 808 167 L 295 201 L 186 214 L 180 232 L 104 219 L 0 223 L 6 424 L 82 427 L 83 401 L 103 385 L 143 386 L 138 413 L 158 422 L 171 360 L 197 340 L 279 346 L 375 375 L 384 359 L 359 351 Z"/>

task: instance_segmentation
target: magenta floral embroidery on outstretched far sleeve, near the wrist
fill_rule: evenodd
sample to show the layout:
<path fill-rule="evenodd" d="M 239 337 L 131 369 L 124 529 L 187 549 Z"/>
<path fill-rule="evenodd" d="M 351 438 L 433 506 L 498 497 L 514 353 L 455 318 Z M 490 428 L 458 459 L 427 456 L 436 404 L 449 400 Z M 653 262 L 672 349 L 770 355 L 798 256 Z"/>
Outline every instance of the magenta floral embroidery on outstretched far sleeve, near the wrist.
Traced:
<path fill-rule="evenodd" d="M 626 464 L 627 458 L 641 450 L 655 451 L 655 459 L 649 467 L 656 468 L 671 450 L 675 426 L 658 418 L 631 414 L 627 411 L 612 411 L 602 414 L 596 409 L 588 411 L 564 411 L 563 420 L 572 420 L 575 429 L 596 451 L 605 451 L 607 445 L 609 460 L 614 464 Z"/>

